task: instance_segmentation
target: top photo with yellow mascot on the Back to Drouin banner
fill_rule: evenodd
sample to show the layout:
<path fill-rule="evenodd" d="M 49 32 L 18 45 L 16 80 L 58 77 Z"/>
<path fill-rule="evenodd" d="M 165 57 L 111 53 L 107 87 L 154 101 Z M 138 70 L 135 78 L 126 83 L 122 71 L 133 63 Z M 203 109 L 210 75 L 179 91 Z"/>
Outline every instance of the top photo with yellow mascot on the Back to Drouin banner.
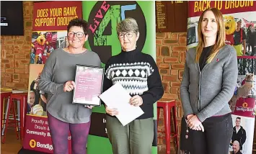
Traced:
<path fill-rule="evenodd" d="M 240 12 L 224 14 L 226 44 L 233 45 L 237 56 L 256 55 L 256 12 Z M 187 19 L 187 47 L 196 47 L 198 44 L 199 17 Z M 238 31 L 239 30 L 239 31 Z M 242 30 L 242 31 L 241 31 Z M 244 48 L 246 49 L 244 52 Z M 244 52 L 244 53 L 243 53 Z"/>

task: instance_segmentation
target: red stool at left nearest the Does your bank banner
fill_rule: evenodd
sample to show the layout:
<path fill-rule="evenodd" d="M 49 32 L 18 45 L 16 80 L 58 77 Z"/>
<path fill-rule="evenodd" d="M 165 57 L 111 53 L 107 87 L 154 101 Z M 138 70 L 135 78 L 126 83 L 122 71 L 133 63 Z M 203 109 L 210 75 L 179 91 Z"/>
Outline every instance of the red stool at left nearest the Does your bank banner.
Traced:
<path fill-rule="evenodd" d="M 17 119 L 16 119 L 16 113 L 15 113 L 15 109 L 14 109 L 14 99 L 19 100 L 19 103 L 20 103 L 20 112 L 19 113 L 20 113 L 20 138 L 21 138 L 21 140 L 23 140 L 24 135 L 25 135 L 24 127 L 25 127 L 25 107 L 27 105 L 27 93 L 11 94 L 8 112 L 7 112 L 7 118 L 6 118 L 6 127 L 4 129 L 4 139 L 3 139 L 2 143 L 4 143 L 5 139 L 6 139 L 6 132 L 7 132 L 7 128 L 9 125 L 9 114 L 10 114 L 11 110 L 12 110 L 12 114 L 14 115 L 15 132 L 17 133 L 17 131 L 16 131 Z M 17 133 L 17 139 L 19 139 L 18 133 Z"/>

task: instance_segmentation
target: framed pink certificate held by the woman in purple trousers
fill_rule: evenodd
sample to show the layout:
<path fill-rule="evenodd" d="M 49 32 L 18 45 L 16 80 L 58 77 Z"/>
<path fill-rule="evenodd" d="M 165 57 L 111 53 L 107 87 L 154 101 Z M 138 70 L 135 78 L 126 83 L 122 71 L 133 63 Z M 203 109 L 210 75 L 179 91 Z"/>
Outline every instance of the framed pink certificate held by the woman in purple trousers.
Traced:
<path fill-rule="evenodd" d="M 104 68 L 76 65 L 73 104 L 100 106 Z"/>

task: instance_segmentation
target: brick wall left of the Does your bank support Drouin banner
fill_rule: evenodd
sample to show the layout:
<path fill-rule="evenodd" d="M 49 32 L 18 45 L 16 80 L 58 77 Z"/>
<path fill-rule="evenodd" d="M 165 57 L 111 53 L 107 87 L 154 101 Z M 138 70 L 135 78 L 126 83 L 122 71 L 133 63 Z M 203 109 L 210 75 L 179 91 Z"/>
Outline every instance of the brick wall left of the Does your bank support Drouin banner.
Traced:
<path fill-rule="evenodd" d="M 24 36 L 1 36 L 1 87 L 27 89 L 33 2 L 23 1 Z"/>

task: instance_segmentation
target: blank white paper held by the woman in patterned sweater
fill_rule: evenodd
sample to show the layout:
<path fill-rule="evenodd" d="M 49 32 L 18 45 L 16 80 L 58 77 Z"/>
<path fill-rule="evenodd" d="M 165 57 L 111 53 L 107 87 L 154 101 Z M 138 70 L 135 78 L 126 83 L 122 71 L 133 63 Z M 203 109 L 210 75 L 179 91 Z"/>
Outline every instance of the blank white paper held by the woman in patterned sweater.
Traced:
<path fill-rule="evenodd" d="M 116 115 L 116 117 L 123 126 L 132 122 L 134 119 L 141 116 L 141 114 L 144 114 L 141 107 L 134 107 L 129 104 L 131 96 L 128 91 L 123 89 L 120 83 L 115 83 L 110 89 L 100 94 L 99 97 L 105 102 L 107 107 L 118 109 L 118 115 Z"/>

